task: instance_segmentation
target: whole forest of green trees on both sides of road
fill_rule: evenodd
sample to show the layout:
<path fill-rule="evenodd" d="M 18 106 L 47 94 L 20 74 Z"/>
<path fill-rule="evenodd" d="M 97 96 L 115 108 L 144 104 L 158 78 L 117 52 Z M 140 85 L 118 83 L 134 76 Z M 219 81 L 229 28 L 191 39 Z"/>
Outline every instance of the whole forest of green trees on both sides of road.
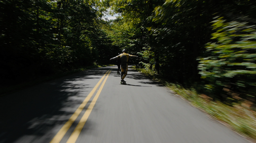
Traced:
<path fill-rule="evenodd" d="M 1 0 L 0 7 L 1 88 L 110 64 L 126 49 L 155 77 L 214 100 L 255 103 L 254 0 Z"/>

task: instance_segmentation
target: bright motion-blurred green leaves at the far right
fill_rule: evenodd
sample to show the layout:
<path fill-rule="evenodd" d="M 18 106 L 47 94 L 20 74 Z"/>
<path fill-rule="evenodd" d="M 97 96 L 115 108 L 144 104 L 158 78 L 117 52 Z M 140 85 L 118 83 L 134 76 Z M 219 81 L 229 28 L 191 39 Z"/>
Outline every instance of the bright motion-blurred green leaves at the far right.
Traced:
<path fill-rule="evenodd" d="M 226 22 L 223 18 L 213 21 L 215 42 L 207 44 L 208 57 L 200 58 L 198 68 L 203 79 L 209 81 L 207 89 L 233 85 L 240 91 L 255 96 L 256 83 L 256 27 L 247 22 Z"/>

